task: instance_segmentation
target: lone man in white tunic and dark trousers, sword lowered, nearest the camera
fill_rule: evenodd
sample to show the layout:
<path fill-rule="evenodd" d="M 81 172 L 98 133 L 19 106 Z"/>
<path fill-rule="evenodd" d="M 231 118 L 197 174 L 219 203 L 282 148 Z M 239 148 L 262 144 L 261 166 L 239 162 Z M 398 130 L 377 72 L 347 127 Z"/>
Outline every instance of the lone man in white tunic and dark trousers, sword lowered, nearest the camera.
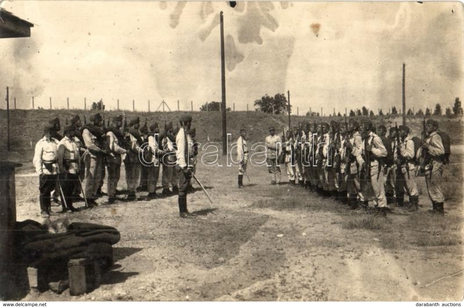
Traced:
<path fill-rule="evenodd" d="M 187 131 L 192 124 L 192 116 L 182 115 L 179 119 L 180 129 L 176 135 L 175 142 L 177 144 L 176 151 L 176 171 L 179 178 L 179 215 L 180 217 L 193 217 L 194 214 L 187 210 L 187 189 L 189 181 L 192 178 L 192 163 L 193 163 L 193 140 Z"/>

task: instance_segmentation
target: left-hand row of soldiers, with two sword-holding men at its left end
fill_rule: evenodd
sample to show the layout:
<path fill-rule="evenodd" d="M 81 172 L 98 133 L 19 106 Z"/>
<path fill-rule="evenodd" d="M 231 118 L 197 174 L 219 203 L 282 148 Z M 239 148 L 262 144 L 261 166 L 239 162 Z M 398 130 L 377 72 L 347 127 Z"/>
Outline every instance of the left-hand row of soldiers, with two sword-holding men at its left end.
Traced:
<path fill-rule="evenodd" d="M 148 127 L 145 120 L 141 126 L 139 117 L 131 119 L 129 124 L 123 115 L 105 122 L 102 115 L 97 113 L 90 116 L 90 123 L 86 122 L 85 117 L 83 123 L 79 115 L 74 115 L 70 122 L 64 127 L 64 136 L 61 136 L 58 134 L 59 119 L 52 119 L 45 125 L 44 136 L 35 147 L 33 164 L 39 174 L 42 217 L 57 214 L 51 206 L 52 199 L 58 196 L 62 212 L 76 211 L 73 204 L 78 200 L 84 200 L 86 207 L 98 205 L 96 199 L 104 195 L 102 185 L 105 176 L 106 204 L 138 200 L 140 198 L 137 198 L 136 192 L 148 192 L 145 199 L 155 198 L 160 165 L 163 167 L 162 195 L 179 193 L 175 135 L 180 129 L 174 130 L 172 122 L 164 122 L 161 134 L 158 122 Z M 187 134 L 194 139 L 195 129 L 189 127 Z M 198 151 L 194 150 L 194 154 L 198 154 Z M 127 182 L 126 198 L 116 196 L 122 163 Z M 193 162 L 191 168 L 194 165 Z M 172 186 L 172 191 L 169 186 Z M 81 193 L 83 198 L 80 197 Z M 55 202 L 58 203 L 57 200 Z M 185 217 L 187 207 L 182 211 L 185 212 L 181 216 Z"/>

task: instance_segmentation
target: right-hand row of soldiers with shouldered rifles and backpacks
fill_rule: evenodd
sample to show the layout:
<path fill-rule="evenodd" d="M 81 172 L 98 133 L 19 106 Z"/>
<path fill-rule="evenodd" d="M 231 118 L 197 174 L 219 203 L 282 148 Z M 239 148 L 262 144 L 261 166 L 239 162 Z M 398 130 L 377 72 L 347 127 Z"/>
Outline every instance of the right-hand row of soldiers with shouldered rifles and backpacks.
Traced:
<path fill-rule="evenodd" d="M 405 194 L 409 205 L 404 209 L 417 211 L 416 178 L 425 176 L 432 212 L 443 214 L 441 176 L 450 153 L 447 134 L 439 132 L 438 122 L 432 119 L 424 119 L 421 139 L 411 136 L 405 125 L 390 128 L 388 138 L 386 133 L 384 125 L 376 129 L 368 119 L 345 118 L 330 124 L 299 123 L 295 133 L 287 131 L 287 140 L 282 141 L 271 127 L 265 140 L 271 184 L 280 182 L 280 163 L 290 184 L 298 179 L 299 185 L 332 196 L 350 209 L 373 209 L 385 216 L 392 203 L 404 207 Z M 243 185 L 243 174 L 238 180 Z M 373 208 L 369 208 L 370 195 Z"/>

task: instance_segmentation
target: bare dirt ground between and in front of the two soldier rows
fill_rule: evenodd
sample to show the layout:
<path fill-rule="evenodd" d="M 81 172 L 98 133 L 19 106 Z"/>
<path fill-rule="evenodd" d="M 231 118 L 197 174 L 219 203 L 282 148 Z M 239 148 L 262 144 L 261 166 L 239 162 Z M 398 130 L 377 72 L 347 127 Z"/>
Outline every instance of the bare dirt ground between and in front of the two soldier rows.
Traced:
<path fill-rule="evenodd" d="M 58 295 L 49 290 L 23 300 L 462 300 L 459 201 L 445 204 L 445 217 L 432 216 L 422 191 L 419 212 L 371 217 L 298 186 L 271 186 L 264 166 L 250 166 L 251 181 L 245 177 L 246 188 L 239 190 L 237 172 L 237 167 L 198 167 L 197 175 L 214 203 L 195 184 L 188 195 L 189 210 L 198 214 L 194 219 L 179 218 L 176 196 L 67 213 L 71 222 L 105 224 L 120 231 L 115 265 L 89 294 L 70 296 L 66 290 Z M 123 174 L 121 178 L 123 189 Z M 18 221 L 43 222 L 37 183 L 31 168 L 19 171 Z M 285 201 L 283 206 L 279 200 Z M 349 226 L 359 221 L 378 227 Z"/>

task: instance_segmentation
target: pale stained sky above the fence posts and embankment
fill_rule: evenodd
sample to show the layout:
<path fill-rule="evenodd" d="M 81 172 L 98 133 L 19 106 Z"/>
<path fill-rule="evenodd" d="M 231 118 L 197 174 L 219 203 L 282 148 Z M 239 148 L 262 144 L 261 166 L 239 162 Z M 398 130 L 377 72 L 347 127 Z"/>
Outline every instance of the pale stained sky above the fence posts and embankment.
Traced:
<path fill-rule="evenodd" d="M 463 97 L 460 2 L 3 1 L 34 24 L 0 41 L 0 91 L 17 108 L 199 110 L 221 101 L 224 13 L 226 104 L 254 109 L 290 91 L 292 113 L 366 106 L 384 113 L 451 107 Z M 462 98 L 461 98 L 462 100 Z M 3 103 L 4 104 L 4 103 Z M 1 108 L 5 106 L 0 103 Z"/>

